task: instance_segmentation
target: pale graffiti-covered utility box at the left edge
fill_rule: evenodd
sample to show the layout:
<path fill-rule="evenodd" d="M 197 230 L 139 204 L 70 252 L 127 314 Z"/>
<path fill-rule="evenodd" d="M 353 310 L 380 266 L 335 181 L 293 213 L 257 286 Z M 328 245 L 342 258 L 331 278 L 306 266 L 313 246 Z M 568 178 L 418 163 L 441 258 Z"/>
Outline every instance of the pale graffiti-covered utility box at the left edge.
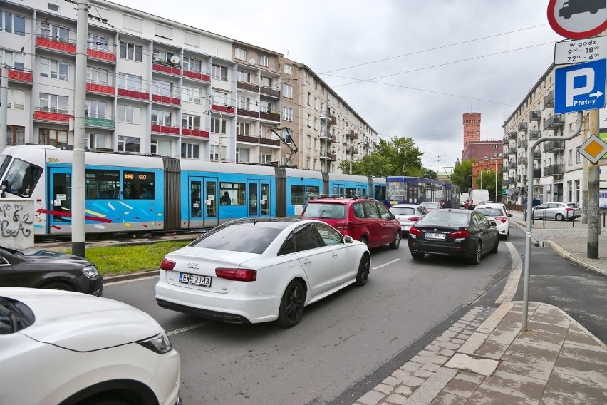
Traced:
<path fill-rule="evenodd" d="M 33 247 L 33 200 L 0 198 L 0 245 L 18 250 Z"/>

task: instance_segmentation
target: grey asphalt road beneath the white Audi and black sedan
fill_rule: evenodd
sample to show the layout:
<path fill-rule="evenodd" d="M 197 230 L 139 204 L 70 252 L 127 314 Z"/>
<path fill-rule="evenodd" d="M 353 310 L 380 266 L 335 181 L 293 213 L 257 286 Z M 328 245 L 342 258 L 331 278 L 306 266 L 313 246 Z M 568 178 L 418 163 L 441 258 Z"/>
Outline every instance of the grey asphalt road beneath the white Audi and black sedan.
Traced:
<path fill-rule="evenodd" d="M 402 365 L 510 269 L 503 242 L 479 266 L 445 257 L 413 261 L 405 243 L 380 248 L 364 287 L 306 307 L 291 329 L 207 322 L 162 309 L 154 298 L 157 277 L 106 284 L 105 297 L 144 310 L 170 334 L 182 356 L 186 404 L 338 404 Z"/>

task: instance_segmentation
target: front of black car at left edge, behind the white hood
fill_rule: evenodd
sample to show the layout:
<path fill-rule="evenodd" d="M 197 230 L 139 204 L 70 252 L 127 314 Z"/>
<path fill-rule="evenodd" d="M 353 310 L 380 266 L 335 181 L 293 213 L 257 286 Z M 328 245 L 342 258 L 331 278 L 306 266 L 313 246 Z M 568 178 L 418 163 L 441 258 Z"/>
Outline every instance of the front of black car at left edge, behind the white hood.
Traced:
<path fill-rule="evenodd" d="M 103 275 L 82 257 L 0 246 L 0 287 L 65 289 L 103 296 Z"/>

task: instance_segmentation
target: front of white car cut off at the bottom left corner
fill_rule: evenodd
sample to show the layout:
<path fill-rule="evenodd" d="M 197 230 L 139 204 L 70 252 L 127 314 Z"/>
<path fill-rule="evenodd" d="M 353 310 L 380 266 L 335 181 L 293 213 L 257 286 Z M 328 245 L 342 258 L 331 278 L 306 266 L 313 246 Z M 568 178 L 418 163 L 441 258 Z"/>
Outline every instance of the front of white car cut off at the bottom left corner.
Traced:
<path fill-rule="evenodd" d="M 181 404 L 180 355 L 145 312 L 0 287 L 0 404 Z"/>

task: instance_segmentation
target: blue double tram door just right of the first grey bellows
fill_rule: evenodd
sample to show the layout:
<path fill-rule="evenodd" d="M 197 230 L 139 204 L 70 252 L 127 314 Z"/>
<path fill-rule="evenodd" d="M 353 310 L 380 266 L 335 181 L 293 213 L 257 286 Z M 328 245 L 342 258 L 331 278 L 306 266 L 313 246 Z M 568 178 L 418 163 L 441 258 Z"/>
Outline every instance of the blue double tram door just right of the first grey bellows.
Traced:
<path fill-rule="evenodd" d="M 217 216 L 217 178 L 190 177 L 188 215 L 190 227 L 219 225 Z"/>

